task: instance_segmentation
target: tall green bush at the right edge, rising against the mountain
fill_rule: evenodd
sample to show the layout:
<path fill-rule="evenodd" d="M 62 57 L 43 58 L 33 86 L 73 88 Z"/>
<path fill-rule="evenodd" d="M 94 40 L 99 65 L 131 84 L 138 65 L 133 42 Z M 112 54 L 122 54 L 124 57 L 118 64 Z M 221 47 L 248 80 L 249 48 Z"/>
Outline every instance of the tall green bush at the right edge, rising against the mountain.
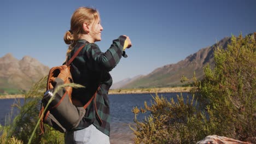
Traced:
<path fill-rule="evenodd" d="M 216 67 L 207 66 L 194 93 L 218 118 L 217 134 L 246 141 L 256 135 L 256 42 L 252 36 L 232 36 L 227 50 L 217 47 Z"/>

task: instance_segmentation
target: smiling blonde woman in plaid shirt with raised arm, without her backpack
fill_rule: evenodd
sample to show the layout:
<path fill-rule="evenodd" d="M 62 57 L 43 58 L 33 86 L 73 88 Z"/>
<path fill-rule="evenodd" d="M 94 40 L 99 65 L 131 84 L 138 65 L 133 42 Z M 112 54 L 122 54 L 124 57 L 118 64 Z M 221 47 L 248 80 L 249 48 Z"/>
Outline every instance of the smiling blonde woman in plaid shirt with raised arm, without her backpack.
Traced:
<path fill-rule="evenodd" d="M 121 35 L 113 40 L 106 52 L 101 52 L 95 44 L 101 40 L 100 15 L 97 10 L 81 7 L 71 17 L 71 28 L 65 33 L 65 43 L 69 45 L 67 59 L 83 46 L 71 64 L 74 83 L 85 88 L 73 89 L 72 98 L 80 104 L 86 104 L 94 97 L 82 121 L 77 128 L 68 131 L 65 143 L 109 143 L 110 116 L 108 90 L 112 85 L 112 70 L 125 55 L 124 50 L 131 47 L 131 40 Z"/>

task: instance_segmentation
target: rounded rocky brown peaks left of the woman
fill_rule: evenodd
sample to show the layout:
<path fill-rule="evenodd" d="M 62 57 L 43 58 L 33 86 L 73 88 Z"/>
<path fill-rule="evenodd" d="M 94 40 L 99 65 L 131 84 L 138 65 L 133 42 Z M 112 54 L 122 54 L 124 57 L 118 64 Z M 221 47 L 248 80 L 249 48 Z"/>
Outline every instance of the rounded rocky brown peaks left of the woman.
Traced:
<path fill-rule="evenodd" d="M 6 93 L 6 89 L 27 91 L 48 73 L 49 67 L 35 58 L 25 56 L 18 60 L 7 53 L 0 58 L 0 93 Z"/>

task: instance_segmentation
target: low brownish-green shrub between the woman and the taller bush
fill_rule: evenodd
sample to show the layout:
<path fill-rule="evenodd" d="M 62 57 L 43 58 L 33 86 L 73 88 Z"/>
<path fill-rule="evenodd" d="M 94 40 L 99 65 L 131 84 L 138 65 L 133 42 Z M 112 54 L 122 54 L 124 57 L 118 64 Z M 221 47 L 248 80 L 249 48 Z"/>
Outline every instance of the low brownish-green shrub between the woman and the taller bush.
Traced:
<path fill-rule="evenodd" d="M 135 143 L 196 143 L 211 131 L 211 122 L 196 109 L 194 97 L 185 101 L 183 96 L 177 95 L 177 103 L 173 98 L 168 101 L 156 94 L 151 106 L 144 103 L 144 108 L 134 107 L 135 126 L 131 127 L 135 134 Z M 210 108 L 208 108 L 209 111 Z M 139 112 L 150 111 L 151 115 L 138 122 Z"/>

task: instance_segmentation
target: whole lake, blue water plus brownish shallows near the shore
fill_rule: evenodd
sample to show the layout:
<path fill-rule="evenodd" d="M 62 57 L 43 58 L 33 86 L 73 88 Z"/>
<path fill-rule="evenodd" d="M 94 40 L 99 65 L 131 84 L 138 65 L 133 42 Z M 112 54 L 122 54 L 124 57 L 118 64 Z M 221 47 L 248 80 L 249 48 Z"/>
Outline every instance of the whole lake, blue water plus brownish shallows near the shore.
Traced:
<path fill-rule="evenodd" d="M 167 100 L 171 98 L 177 101 L 176 95 L 181 93 L 159 93 L 159 96 L 166 97 Z M 126 141 L 132 143 L 132 130 L 129 125 L 134 124 L 132 108 L 137 106 L 138 108 L 144 107 L 144 101 L 150 105 L 152 101 L 152 95 L 155 94 L 109 94 L 110 101 L 110 142 L 119 143 Z M 183 93 L 184 99 L 187 98 L 187 93 Z M 20 99 L 21 103 L 24 103 L 24 99 Z M 5 117 L 10 112 L 10 107 L 15 102 L 15 99 L 0 99 L 0 124 L 4 125 Z M 154 102 L 154 101 L 153 101 Z M 18 109 L 14 109 L 13 113 L 18 113 Z M 139 121 L 145 118 L 149 113 L 144 113 L 137 116 Z"/>

